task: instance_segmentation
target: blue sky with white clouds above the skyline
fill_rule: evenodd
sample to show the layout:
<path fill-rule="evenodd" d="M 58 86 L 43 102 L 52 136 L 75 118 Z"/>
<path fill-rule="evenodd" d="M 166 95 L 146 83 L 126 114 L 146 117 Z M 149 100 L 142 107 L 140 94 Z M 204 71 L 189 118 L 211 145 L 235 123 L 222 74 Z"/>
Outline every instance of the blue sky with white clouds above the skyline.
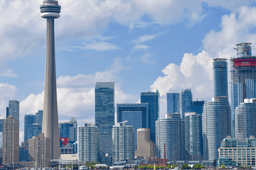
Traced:
<path fill-rule="evenodd" d="M 43 109 L 46 20 L 41 1 L 0 1 L 0 114 L 20 101 L 25 114 Z M 97 81 L 115 81 L 116 103 L 139 103 L 140 92 L 190 88 L 211 100 L 212 60 L 236 56 L 238 43 L 256 44 L 253 1 L 60 0 L 55 20 L 59 120 L 94 122 Z M 253 55 L 254 52 L 252 52 Z M 229 62 L 228 62 L 229 63 Z M 230 75 L 229 75 L 230 77 Z M 83 121 L 83 122 L 82 122 Z"/>

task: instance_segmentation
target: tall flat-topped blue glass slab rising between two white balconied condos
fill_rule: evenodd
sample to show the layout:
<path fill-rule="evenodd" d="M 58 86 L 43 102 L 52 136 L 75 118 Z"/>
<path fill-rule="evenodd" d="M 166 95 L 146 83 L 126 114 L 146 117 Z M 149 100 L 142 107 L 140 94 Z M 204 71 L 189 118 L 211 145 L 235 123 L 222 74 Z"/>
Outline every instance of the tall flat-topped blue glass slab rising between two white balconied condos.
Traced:
<path fill-rule="evenodd" d="M 100 163 L 111 165 L 112 128 L 115 125 L 115 82 L 96 82 L 95 125 L 99 130 Z"/>

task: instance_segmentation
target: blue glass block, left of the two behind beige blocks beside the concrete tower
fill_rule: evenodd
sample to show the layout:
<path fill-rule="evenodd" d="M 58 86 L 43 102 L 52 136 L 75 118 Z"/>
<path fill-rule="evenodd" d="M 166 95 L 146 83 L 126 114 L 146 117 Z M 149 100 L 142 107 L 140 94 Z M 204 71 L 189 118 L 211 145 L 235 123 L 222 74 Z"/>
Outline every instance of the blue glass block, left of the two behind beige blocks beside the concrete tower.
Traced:
<path fill-rule="evenodd" d="M 36 115 L 25 115 L 24 117 L 24 141 L 33 137 L 30 124 L 36 123 Z"/>

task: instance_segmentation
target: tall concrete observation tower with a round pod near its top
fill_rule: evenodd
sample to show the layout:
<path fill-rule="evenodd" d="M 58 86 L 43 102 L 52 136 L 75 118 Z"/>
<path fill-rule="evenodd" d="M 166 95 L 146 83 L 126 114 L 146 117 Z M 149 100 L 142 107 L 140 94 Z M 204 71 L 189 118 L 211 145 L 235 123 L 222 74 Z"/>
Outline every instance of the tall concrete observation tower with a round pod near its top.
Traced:
<path fill-rule="evenodd" d="M 60 17 L 58 1 L 47 0 L 40 5 L 41 17 L 46 19 L 46 62 L 44 84 L 44 112 L 42 133 L 49 138 L 50 158 L 59 159 L 59 123 L 57 107 L 57 87 L 55 69 L 54 19 Z"/>

